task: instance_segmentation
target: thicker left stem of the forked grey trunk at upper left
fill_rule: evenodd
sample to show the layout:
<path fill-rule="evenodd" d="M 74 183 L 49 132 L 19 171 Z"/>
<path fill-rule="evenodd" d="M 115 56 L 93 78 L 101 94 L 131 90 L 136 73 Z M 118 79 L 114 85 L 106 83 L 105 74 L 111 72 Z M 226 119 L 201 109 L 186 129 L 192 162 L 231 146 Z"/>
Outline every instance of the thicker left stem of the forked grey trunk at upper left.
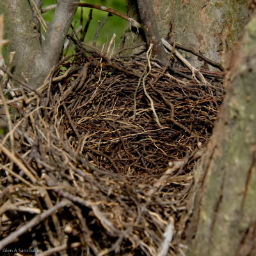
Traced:
<path fill-rule="evenodd" d="M 14 74 L 30 77 L 33 58 L 40 52 L 40 33 L 36 29 L 28 0 L 0 1 L 0 12 L 4 15 L 4 38 L 7 52 L 15 51 Z"/>

